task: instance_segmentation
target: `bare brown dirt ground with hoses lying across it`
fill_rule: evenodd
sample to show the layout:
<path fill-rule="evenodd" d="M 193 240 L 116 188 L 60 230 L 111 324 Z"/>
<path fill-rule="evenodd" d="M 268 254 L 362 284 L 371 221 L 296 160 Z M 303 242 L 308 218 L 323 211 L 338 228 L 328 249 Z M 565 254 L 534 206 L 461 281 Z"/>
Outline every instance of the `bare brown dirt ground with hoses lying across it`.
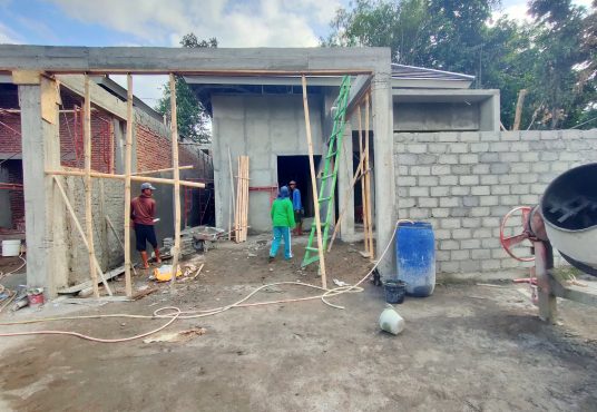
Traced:
<path fill-rule="evenodd" d="M 209 251 L 193 282 L 133 303 L 48 304 L 0 321 L 72 314 L 150 314 L 235 302 L 255 286 L 317 283 L 300 262 L 266 263 L 263 239 Z M 337 244 L 331 278 L 355 282 L 368 262 L 359 245 Z M 272 269 L 272 271 L 270 271 Z M 147 284 L 137 278 L 137 286 Z M 0 410 L 14 411 L 596 411 L 597 308 L 560 301 L 559 325 L 544 324 L 511 284 L 438 284 L 428 298 L 397 308 L 407 328 L 380 332 L 383 290 L 331 301 L 233 308 L 176 321 L 164 332 L 200 326 L 186 342 L 101 344 L 68 336 L 0 339 Z M 275 286 L 251 302 L 315 291 Z M 67 307 L 68 306 L 68 307 Z M 22 311 L 21 311 L 22 312 Z M 59 321 L 0 332 L 70 330 L 101 337 L 148 331 L 164 320 Z"/>

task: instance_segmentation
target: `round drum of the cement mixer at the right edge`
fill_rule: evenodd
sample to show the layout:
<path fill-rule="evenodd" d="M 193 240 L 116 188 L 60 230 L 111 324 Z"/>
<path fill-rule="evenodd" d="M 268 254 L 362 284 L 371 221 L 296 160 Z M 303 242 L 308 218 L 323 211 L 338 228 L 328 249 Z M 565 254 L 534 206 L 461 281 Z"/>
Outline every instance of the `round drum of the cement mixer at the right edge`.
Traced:
<path fill-rule="evenodd" d="M 558 176 L 540 207 L 551 245 L 580 271 L 597 275 L 597 164 Z"/>

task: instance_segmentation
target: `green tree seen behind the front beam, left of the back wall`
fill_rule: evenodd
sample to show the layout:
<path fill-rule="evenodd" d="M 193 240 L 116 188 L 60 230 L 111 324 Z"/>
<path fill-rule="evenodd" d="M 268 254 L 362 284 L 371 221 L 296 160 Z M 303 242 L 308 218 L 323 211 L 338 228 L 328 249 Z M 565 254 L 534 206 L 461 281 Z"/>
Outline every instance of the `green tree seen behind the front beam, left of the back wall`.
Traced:
<path fill-rule="evenodd" d="M 199 41 L 197 36 L 188 33 L 180 40 L 180 46 L 187 48 L 216 48 L 217 40 L 211 38 Z M 156 110 L 170 118 L 169 84 L 164 85 L 163 89 L 164 94 L 157 104 Z M 176 111 L 180 137 L 186 137 L 197 143 L 209 143 L 212 140 L 209 115 L 182 76 L 176 76 Z"/>

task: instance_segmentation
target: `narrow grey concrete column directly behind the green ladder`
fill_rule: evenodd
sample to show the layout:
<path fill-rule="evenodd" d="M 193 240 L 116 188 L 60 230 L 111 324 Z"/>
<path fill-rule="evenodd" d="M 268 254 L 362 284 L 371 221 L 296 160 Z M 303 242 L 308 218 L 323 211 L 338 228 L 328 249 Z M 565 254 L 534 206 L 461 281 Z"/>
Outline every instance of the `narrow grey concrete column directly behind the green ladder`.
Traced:
<path fill-rule="evenodd" d="M 340 222 L 340 238 L 344 242 L 354 241 L 354 189 L 351 188 L 353 176 L 352 165 L 352 127 L 350 121 L 346 121 L 337 168 L 339 213 L 344 210 L 342 220 Z"/>

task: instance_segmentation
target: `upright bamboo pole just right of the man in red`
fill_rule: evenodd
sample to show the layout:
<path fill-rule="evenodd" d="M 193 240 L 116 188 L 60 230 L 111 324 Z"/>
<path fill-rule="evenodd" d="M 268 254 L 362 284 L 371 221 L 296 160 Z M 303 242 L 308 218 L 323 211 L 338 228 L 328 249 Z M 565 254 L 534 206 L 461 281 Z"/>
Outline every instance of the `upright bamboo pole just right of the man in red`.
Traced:
<path fill-rule="evenodd" d="M 178 166 L 178 115 L 176 112 L 176 78 L 170 73 L 172 163 L 174 167 L 174 251 L 172 252 L 170 287 L 174 290 L 180 255 L 180 171 Z"/>

